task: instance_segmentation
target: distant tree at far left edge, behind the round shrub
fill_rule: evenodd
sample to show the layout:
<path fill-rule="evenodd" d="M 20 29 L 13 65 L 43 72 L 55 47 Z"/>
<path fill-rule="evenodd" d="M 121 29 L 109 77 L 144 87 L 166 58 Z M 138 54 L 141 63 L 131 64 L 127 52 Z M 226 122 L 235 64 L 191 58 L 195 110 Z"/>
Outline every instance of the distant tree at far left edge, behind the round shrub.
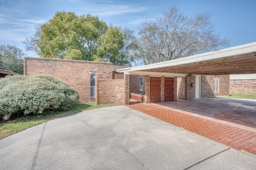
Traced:
<path fill-rule="evenodd" d="M 23 74 L 24 55 L 15 45 L 0 45 L 0 69 Z"/>

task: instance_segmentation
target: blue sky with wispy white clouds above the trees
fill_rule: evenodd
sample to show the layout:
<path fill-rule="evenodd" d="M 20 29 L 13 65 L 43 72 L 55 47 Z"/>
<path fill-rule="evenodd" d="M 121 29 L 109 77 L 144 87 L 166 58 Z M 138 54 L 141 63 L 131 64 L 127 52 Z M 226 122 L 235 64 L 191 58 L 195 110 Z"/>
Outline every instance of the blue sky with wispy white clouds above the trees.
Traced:
<path fill-rule="evenodd" d="M 0 0 L 0 44 L 24 49 L 21 41 L 33 35 L 34 25 L 57 11 L 92 14 L 137 31 L 141 21 L 160 17 L 173 5 L 190 17 L 211 12 L 216 32 L 230 39 L 230 47 L 256 41 L 256 0 Z"/>

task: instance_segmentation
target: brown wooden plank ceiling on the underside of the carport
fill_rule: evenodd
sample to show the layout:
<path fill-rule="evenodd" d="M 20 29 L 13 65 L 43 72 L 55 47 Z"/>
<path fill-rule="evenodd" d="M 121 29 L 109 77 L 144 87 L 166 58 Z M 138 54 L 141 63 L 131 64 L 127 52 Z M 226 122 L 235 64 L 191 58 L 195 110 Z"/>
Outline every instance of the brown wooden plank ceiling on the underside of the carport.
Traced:
<path fill-rule="evenodd" d="M 201 75 L 254 74 L 256 73 L 256 52 L 177 66 L 151 68 L 143 71 Z"/>

